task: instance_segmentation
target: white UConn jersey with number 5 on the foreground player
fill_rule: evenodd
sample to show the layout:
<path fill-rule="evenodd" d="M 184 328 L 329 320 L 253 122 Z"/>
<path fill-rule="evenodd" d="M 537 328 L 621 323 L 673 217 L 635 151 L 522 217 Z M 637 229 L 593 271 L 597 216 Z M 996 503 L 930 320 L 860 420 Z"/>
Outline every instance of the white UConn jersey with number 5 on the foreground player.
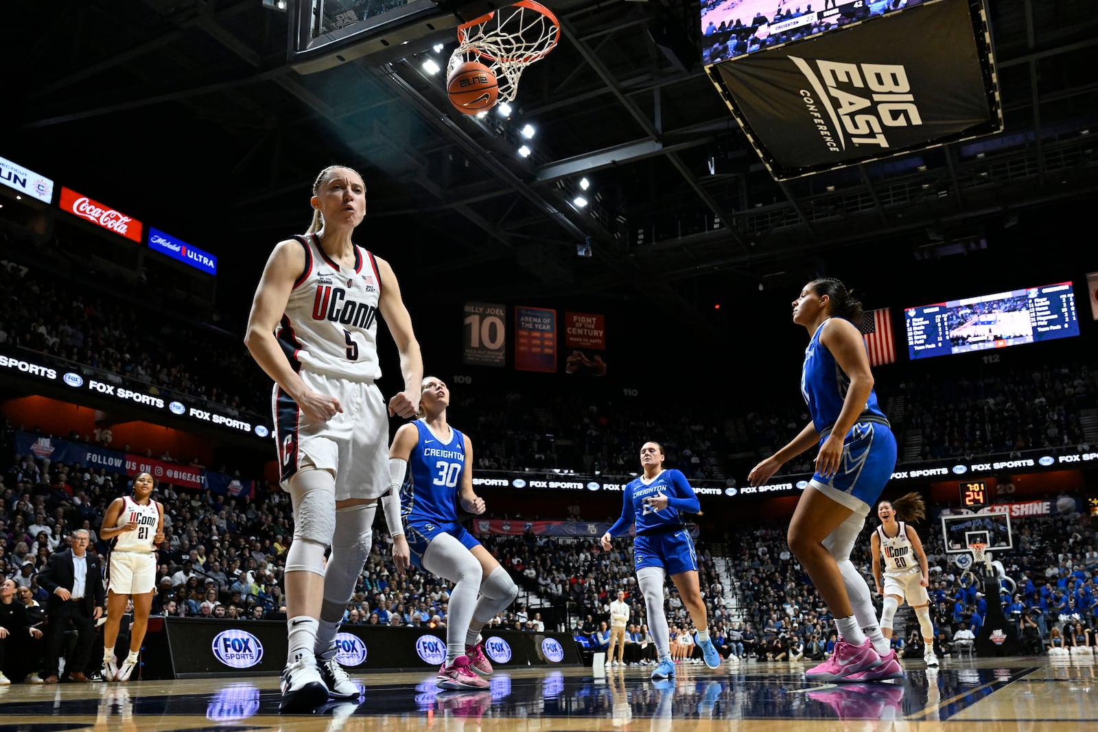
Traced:
<path fill-rule="evenodd" d="M 373 255 L 355 245 L 355 263 L 328 259 L 316 235 L 294 237 L 305 268 L 293 283 L 276 336 L 294 370 L 352 381 L 381 376 L 378 301 L 381 277 Z"/>

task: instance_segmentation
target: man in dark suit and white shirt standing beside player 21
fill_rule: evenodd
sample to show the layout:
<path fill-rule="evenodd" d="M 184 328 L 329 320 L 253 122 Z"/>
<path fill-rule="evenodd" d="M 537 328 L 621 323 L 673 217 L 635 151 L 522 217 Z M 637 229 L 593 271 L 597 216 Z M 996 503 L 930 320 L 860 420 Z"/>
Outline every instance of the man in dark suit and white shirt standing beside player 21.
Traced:
<path fill-rule="evenodd" d="M 77 631 L 76 649 L 65 660 L 66 676 L 74 682 L 89 682 L 85 673 L 91 644 L 96 638 L 96 621 L 103 615 L 105 593 L 103 567 L 99 558 L 88 553 L 88 531 L 77 529 L 69 547 L 49 555 L 49 562 L 38 573 L 38 585 L 49 593 L 46 618 L 49 623 L 49 645 L 46 658 L 47 684 L 57 683 L 61 641 L 69 621 Z"/>

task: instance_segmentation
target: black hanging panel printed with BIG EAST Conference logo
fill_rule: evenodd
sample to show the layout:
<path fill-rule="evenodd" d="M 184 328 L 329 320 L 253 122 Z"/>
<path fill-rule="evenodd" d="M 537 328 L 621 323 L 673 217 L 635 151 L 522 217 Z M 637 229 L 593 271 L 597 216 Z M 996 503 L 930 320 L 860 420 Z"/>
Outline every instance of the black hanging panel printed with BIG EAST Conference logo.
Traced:
<path fill-rule="evenodd" d="M 1002 129 L 979 0 L 933 0 L 706 70 L 776 180 Z"/>

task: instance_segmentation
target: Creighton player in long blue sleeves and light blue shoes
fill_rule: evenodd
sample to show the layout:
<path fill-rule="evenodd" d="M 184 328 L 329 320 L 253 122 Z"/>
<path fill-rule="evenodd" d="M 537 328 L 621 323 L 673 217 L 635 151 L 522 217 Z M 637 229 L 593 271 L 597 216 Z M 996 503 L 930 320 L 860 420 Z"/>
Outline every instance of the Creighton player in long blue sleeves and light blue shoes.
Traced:
<path fill-rule="evenodd" d="M 697 514 L 701 505 L 694 488 L 681 471 L 663 468 L 663 446 L 645 442 L 640 447 L 640 464 L 645 474 L 625 486 L 621 518 L 603 534 L 603 549 L 610 550 L 610 539 L 620 536 L 636 523 L 637 536 L 632 541 L 634 565 L 637 583 L 645 595 L 648 627 L 656 641 L 660 663 L 652 672 L 652 680 L 675 675 L 671 660 L 668 616 L 663 610 L 663 585 L 668 575 L 679 588 L 679 597 L 690 612 L 697 631 L 697 644 L 709 668 L 720 666 L 720 653 L 709 640 L 709 613 L 702 599 L 697 581 L 697 554 L 686 530 L 683 514 Z"/>

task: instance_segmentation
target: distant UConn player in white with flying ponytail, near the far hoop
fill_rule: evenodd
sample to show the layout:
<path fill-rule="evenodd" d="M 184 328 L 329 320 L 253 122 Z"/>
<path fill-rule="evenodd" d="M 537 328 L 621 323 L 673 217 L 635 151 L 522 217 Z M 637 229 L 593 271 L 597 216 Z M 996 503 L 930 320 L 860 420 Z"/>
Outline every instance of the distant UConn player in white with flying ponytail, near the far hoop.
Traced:
<path fill-rule="evenodd" d="M 872 539 L 873 578 L 876 581 L 877 594 L 885 596 L 884 608 L 881 611 L 881 632 L 885 638 L 892 638 L 893 618 L 899 606 L 906 601 L 919 619 L 919 630 L 925 643 L 922 658 L 927 662 L 927 666 L 937 666 L 934 623 L 930 619 L 930 595 L 927 594 L 927 585 L 930 583 L 927 553 L 922 550 L 918 532 L 907 523 L 907 520 L 919 521 L 926 515 L 927 507 L 917 493 L 908 493 L 896 500 L 882 500 L 877 504 L 881 526 L 873 532 Z M 897 520 L 899 517 L 907 520 Z M 882 559 L 884 560 L 883 585 Z"/>

